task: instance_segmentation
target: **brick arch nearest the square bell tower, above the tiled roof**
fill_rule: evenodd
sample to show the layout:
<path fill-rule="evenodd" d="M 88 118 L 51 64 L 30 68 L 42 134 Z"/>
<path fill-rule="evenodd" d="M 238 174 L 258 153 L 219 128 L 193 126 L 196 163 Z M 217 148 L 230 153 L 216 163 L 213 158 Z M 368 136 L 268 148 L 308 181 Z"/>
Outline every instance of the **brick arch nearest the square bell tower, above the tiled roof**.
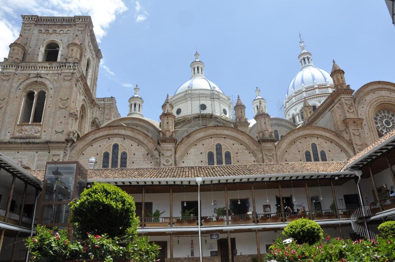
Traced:
<path fill-rule="evenodd" d="M 135 128 L 120 127 L 120 126 L 102 127 L 83 135 L 83 137 L 81 137 L 77 142 L 75 142 L 71 146 L 70 161 L 78 160 L 80 157 L 82 157 L 81 154 L 85 150 L 87 150 L 88 147 L 105 138 L 110 140 L 121 139 L 121 141 L 124 140 L 125 138 L 125 140 L 128 139 L 129 141 L 134 141 L 141 148 L 147 151 L 147 156 L 150 156 L 150 159 L 152 159 L 151 166 L 155 166 L 155 167 L 160 166 L 160 155 L 159 155 L 160 148 L 158 144 L 148 135 Z M 102 149 L 101 148 L 98 149 L 97 152 L 98 153 L 102 152 Z M 84 155 L 84 157 L 87 158 L 89 156 Z M 94 155 L 94 157 L 96 157 L 96 155 Z M 101 159 L 100 155 L 99 157 Z M 129 154 L 128 154 L 128 158 L 129 158 Z M 147 157 L 145 158 L 147 159 Z"/>

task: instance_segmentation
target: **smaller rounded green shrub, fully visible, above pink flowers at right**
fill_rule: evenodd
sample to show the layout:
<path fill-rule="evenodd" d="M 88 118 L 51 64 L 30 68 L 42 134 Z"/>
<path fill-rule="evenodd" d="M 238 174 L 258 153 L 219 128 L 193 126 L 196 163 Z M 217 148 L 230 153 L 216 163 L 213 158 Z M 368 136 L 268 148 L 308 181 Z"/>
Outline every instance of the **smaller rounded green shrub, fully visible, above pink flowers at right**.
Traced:
<path fill-rule="evenodd" d="M 292 238 L 298 244 L 312 245 L 322 240 L 324 231 L 316 222 L 309 219 L 298 219 L 290 222 L 282 231 L 287 238 Z"/>

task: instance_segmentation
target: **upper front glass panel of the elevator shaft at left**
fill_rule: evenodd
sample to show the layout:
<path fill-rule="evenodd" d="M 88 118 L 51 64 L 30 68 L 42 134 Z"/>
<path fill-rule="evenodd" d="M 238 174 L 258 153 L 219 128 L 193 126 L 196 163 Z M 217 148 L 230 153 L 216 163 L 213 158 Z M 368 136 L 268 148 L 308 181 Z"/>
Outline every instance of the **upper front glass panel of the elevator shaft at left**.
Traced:
<path fill-rule="evenodd" d="M 45 201 L 70 201 L 73 196 L 75 169 L 77 164 L 47 165 L 45 178 Z"/>

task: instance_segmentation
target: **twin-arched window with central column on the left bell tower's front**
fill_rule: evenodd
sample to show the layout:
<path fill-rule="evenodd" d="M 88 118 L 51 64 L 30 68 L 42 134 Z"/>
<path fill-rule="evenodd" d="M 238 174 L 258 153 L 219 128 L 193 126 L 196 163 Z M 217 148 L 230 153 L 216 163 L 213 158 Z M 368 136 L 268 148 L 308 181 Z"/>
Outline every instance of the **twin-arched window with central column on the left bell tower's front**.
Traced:
<path fill-rule="evenodd" d="M 24 95 L 18 123 L 41 123 L 45 109 L 46 93 L 44 90 L 29 90 Z"/>

